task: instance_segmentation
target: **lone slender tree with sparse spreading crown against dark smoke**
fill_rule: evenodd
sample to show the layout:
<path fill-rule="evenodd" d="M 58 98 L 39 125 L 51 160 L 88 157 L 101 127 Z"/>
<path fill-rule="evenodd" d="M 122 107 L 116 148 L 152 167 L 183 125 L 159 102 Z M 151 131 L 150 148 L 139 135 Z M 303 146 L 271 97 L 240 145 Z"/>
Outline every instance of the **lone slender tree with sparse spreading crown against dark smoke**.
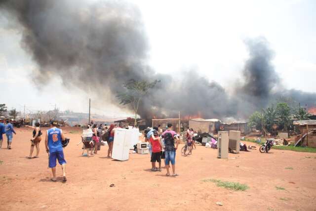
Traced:
<path fill-rule="evenodd" d="M 134 127 L 137 125 L 137 112 L 142 98 L 158 82 L 160 81 L 155 80 L 154 82 L 149 83 L 147 81 L 136 81 L 134 79 L 131 79 L 127 83 L 123 84 L 125 90 L 123 92 L 118 93 L 118 95 L 116 96 L 120 100 L 119 104 L 131 104 L 135 112 Z"/>

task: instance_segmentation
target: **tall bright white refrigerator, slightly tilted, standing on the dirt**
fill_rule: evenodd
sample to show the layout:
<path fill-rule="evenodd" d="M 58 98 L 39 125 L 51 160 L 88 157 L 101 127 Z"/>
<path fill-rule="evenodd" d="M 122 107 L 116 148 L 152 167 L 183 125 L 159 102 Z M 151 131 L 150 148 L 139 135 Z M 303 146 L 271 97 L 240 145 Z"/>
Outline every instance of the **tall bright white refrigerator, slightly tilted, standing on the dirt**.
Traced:
<path fill-rule="evenodd" d="M 129 158 L 130 136 L 132 131 L 123 128 L 115 130 L 112 158 L 118 161 L 126 161 Z"/>

